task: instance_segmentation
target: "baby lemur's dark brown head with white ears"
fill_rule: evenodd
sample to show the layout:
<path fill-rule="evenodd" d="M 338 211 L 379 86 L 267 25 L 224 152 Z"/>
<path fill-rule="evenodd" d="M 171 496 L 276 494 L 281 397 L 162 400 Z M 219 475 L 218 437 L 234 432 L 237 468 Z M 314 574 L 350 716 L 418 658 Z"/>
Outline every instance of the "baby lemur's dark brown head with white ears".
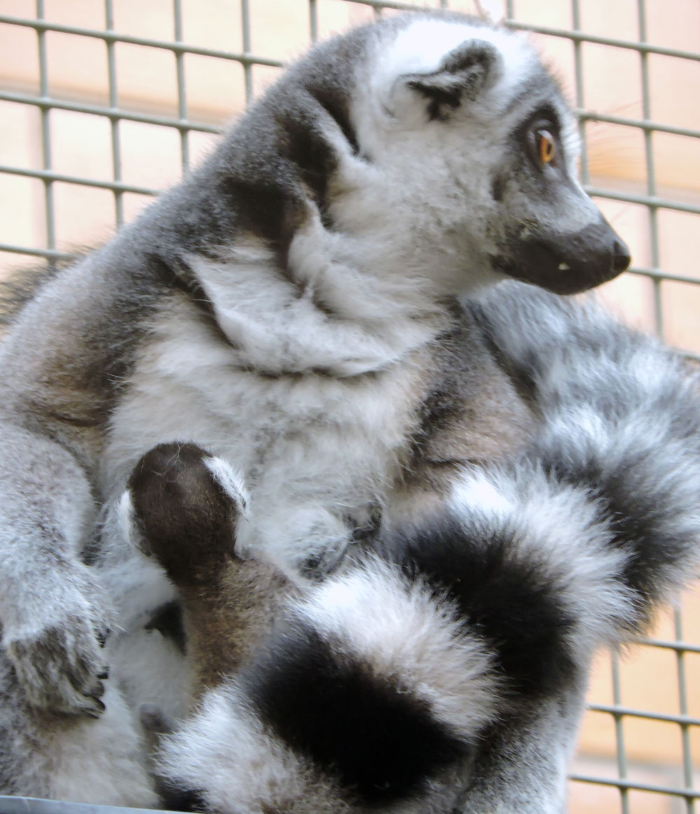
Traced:
<path fill-rule="evenodd" d="M 120 500 L 120 523 L 176 584 L 206 579 L 235 551 L 247 512 L 243 479 L 196 444 L 158 444 L 134 467 Z"/>

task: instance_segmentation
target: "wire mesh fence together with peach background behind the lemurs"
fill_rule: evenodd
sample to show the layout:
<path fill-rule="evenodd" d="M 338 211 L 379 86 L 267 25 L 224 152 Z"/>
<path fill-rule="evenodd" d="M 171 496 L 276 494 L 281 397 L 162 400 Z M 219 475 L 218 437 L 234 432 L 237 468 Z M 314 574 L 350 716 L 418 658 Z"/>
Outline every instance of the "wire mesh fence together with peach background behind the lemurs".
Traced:
<path fill-rule="evenodd" d="M 0 277 L 109 239 L 309 42 L 421 5 L 529 32 L 632 248 L 602 296 L 700 357 L 698 0 L 2 0 Z M 602 654 L 589 701 L 571 814 L 700 814 L 700 591 Z"/>

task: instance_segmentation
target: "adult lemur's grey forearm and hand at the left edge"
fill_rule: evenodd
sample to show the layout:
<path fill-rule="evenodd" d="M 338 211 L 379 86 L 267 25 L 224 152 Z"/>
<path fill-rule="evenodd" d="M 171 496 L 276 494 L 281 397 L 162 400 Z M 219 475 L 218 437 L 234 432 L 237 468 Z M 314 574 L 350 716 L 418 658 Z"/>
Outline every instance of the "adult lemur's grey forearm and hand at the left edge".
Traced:
<path fill-rule="evenodd" d="M 95 506 L 62 446 L 5 425 L 0 438 L 2 643 L 33 706 L 99 716 L 108 610 L 80 559 Z"/>

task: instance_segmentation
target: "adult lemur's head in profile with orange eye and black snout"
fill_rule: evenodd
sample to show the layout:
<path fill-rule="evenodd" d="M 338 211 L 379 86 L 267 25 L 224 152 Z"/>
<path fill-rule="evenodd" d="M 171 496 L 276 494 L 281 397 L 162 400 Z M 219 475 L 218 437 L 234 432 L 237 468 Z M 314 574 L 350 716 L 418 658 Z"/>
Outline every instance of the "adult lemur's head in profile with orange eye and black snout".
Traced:
<path fill-rule="evenodd" d="M 628 267 L 627 247 L 577 181 L 575 118 L 521 35 L 409 18 L 366 78 L 358 140 L 396 186 L 405 179 L 446 252 L 462 247 L 470 268 L 557 293 Z"/>

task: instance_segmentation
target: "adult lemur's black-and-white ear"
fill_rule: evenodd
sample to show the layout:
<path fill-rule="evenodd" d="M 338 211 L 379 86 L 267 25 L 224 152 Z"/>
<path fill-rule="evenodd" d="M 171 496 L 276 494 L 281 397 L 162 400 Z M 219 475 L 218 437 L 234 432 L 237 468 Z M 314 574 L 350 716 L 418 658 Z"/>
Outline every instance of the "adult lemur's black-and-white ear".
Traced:
<path fill-rule="evenodd" d="M 501 76 L 502 58 L 490 42 L 469 40 L 451 50 L 431 73 L 406 73 L 400 80 L 427 103 L 431 121 L 444 121 Z"/>

